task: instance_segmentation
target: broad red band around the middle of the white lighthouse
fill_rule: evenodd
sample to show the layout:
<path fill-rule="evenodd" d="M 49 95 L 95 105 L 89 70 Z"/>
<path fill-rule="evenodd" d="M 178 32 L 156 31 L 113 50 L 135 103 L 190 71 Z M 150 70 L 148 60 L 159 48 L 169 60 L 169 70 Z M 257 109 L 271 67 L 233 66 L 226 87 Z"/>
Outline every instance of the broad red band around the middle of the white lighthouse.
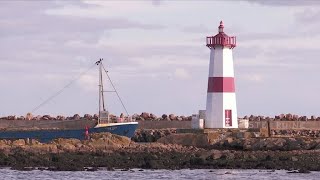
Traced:
<path fill-rule="evenodd" d="M 233 77 L 209 77 L 208 92 L 235 92 Z"/>

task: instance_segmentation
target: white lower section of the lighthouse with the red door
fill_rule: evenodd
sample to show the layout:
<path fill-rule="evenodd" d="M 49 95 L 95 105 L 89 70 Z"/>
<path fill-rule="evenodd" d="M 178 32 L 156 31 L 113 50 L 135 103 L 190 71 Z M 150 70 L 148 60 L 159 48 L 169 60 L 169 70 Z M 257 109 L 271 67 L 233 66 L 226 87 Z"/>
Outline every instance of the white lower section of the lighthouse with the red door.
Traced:
<path fill-rule="evenodd" d="M 205 128 L 238 128 L 235 93 L 208 93 Z"/>

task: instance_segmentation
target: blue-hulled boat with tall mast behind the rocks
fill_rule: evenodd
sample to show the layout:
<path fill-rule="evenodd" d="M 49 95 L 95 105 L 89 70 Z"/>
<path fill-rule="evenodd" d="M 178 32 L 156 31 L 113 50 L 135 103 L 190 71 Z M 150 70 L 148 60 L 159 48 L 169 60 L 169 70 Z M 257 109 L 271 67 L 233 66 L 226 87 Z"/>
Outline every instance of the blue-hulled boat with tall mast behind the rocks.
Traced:
<path fill-rule="evenodd" d="M 95 62 L 95 65 L 99 67 L 99 115 L 97 123 L 94 126 L 84 125 L 83 127 L 76 126 L 76 128 L 55 128 L 54 124 L 50 124 L 52 128 L 45 129 L 34 129 L 34 128 L 23 128 L 15 127 L 13 129 L 3 129 L 0 131 L 0 139 L 36 139 L 40 142 L 49 142 L 57 138 L 75 138 L 75 139 L 88 139 L 91 133 L 103 133 L 110 132 L 120 136 L 126 136 L 131 138 L 138 126 L 138 122 L 135 122 L 129 115 L 125 108 L 116 88 L 114 87 L 108 71 L 103 66 L 103 59 Z M 112 92 L 115 92 L 118 96 L 123 108 L 125 109 L 127 116 L 120 117 L 118 122 L 110 120 L 109 111 L 105 108 L 104 93 L 110 92 L 104 90 L 103 85 L 103 72 L 107 75 L 111 86 Z M 50 97 L 49 99 L 51 99 Z M 43 104 L 40 104 L 43 105 Z M 40 107 L 40 106 L 39 106 Z M 67 120 L 73 121 L 73 120 Z M 78 123 L 79 120 L 74 120 L 72 123 Z M 57 121 L 56 123 L 63 123 Z M 83 122 L 82 122 L 83 124 Z"/>

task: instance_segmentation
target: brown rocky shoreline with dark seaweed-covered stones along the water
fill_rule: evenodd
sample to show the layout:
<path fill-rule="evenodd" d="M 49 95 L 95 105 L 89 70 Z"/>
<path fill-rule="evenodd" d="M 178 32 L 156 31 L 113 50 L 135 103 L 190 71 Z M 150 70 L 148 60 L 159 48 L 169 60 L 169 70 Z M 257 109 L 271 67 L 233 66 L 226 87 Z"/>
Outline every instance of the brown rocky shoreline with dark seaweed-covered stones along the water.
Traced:
<path fill-rule="evenodd" d="M 0 140 L 0 167 L 52 171 L 93 171 L 101 167 L 320 171 L 318 139 L 252 137 L 253 133 L 240 131 L 210 135 L 167 132 L 152 143 L 137 143 L 109 133 L 93 134 L 90 140 L 57 139 L 48 144 Z"/>

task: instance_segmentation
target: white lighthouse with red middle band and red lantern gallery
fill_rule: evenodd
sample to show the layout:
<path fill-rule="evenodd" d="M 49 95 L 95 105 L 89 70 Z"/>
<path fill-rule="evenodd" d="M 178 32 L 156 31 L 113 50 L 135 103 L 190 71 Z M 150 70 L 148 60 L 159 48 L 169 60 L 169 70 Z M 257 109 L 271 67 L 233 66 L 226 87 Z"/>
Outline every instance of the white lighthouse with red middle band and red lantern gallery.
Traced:
<path fill-rule="evenodd" d="M 207 37 L 210 49 L 205 128 L 238 128 L 232 49 L 236 37 L 223 32 Z"/>

